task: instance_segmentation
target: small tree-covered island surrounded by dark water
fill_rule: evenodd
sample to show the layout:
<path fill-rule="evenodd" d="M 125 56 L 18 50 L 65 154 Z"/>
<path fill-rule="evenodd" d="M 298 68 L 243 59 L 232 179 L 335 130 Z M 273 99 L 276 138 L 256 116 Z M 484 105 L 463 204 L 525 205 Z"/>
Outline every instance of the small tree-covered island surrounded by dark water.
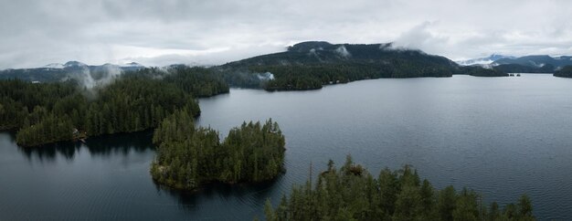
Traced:
<path fill-rule="evenodd" d="M 203 184 L 259 183 L 284 171 L 285 140 L 277 122 L 243 122 L 220 142 L 217 131 L 195 127 L 188 110 L 175 110 L 154 132 L 151 174 L 158 184 L 194 190 Z"/>

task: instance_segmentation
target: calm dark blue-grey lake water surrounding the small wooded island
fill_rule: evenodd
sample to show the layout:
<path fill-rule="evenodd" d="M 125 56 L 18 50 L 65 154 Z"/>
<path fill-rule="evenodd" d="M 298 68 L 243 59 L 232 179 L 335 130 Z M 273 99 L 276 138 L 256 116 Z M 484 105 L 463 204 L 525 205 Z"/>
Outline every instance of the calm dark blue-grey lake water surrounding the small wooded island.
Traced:
<path fill-rule="evenodd" d="M 540 220 L 572 220 L 572 79 L 374 79 L 313 91 L 231 89 L 200 100 L 198 124 L 222 136 L 272 118 L 287 173 L 271 184 L 196 194 L 156 186 L 152 132 L 19 148 L 0 133 L 0 220 L 252 220 L 292 184 L 351 153 L 372 174 L 414 165 L 436 187 L 470 187 L 487 202 L 533 199 Z"/>

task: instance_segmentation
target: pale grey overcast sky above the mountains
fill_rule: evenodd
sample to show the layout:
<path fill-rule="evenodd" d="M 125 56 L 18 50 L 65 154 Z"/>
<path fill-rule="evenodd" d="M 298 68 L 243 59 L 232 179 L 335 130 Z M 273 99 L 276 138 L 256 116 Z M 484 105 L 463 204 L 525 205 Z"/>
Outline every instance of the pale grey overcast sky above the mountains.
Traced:
<path fill-rule="evenodd" d="M 572 55 L 572 1 L 0 0 L 0 68 L 213 65 L 306 40 L 451 59 Z"/>

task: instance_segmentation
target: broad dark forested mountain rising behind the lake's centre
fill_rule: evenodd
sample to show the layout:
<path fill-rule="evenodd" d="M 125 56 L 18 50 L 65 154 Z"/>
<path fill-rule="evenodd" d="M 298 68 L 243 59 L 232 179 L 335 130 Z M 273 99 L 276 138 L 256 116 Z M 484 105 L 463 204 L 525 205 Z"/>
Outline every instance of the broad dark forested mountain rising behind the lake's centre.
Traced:
<path fill-rule="evenodd" d="M 265 89 L 320 89 L 325 84 L 359 79 L 450 77 L 453 74 L 506 76 L 493 69 L 461 67 L 449 58 L 428 55 L 420 50 L 388 44 L 331 44 L 302 42 L 284 52 L 230 62 L 217 67 L 228 82 L 255 82 L 240 79 L 244 73 L 271 73 Z M 246 75 L 248 76 L 248 75 Z"/>

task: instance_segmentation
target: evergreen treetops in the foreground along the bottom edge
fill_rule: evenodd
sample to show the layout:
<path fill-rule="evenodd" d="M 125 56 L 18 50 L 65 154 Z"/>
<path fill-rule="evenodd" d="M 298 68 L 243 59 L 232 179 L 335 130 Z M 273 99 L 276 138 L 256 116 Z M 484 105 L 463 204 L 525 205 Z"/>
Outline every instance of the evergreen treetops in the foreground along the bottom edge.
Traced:
<path fill-rule="evenodd" d="M 347 156 L 337 169 L 334 162 L 306 184 L 292 187 L 289 197 L 264 206 L 267 220 L 535 220 L 527 195 L 515 204 L 484 205 L 482 195 L 447 186 L 438 190 L 421 181 L 409 165 L 397 171 L 382 170 L 377 177 Z"/>

